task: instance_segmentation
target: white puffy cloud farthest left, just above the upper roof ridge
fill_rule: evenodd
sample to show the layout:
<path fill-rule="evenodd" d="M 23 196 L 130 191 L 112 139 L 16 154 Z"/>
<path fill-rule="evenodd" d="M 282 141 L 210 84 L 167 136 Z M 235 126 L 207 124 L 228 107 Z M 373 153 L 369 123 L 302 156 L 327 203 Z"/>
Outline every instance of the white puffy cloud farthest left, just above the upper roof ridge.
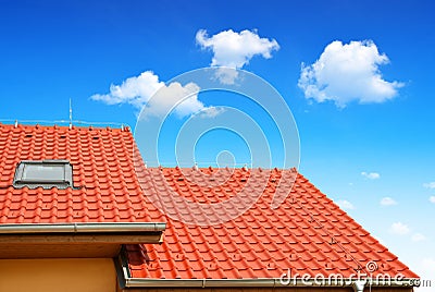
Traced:
<path fill-rule="evenodd" d="M 199 90 L 200 88 L 195 83 L 183 86 L 174 82 L 165 85 L 153 72 L 146 71 L 139 76 L 126 78 L 121 85 L 112 84 L 109 94 L 97 94 L 90 98 L 107 105 L 129 104 L 139 110 L 146 106 L 147 115 L 165 114 L 177 105 L 174 109 L 175 113 L 178 117 L 185 117 L 207 109 L 198 100 Z M 183 100 L 184 97 L 188 98 Z"/>

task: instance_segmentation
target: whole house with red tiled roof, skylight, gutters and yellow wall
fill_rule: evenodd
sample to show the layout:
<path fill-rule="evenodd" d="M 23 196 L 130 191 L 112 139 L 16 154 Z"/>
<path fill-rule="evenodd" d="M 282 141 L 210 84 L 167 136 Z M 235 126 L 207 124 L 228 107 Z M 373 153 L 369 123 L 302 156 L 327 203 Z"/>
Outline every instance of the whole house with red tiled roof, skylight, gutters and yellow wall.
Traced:
<path fill-rule="evenodd" d="M 127 127 L 0 124 L 0 291 L 386 292 L 418 278 L 295 169 L 147 168 Z"/>

